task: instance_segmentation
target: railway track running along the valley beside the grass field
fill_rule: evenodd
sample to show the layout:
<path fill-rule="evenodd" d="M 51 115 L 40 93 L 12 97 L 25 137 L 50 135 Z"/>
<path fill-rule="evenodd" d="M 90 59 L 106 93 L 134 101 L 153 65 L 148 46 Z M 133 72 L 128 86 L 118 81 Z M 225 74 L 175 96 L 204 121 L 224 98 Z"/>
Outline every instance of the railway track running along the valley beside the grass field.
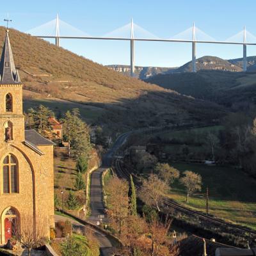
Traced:
<path fill-rule="evenodd" d="M 132 173 L 130 173 L 129 171 L 125 170 L 125 168 L 122 167 L 120 159 L 118 159 L 118 158 L 113 159 L 113 167 L 115 168 L 116 174 L 119 177 L 122 177 L 127 180 L 130 179 L 130 175 L 132 175 Z M 134 177 L 134 175 L 132 175 L 132 176 Z M 140 186 L 140 184 L 138 184 L 138 182 L 136 182 L 136 179 L 134 179 L 134 186 L 136 186 L 136 189 L 138 189 L 138 191 L 141 191 L 141 186 Z M 164 198 L 162 200 L 162 202 L 164 205 L 167 205 L 168 207 L 173 207 L 174 209 L 177 209 L 178 211 L 185 212 L 186 214 L 195 216 L 198 219 L 207 221 L 207 222 L 215 224 L 215 225 L 222 225 L 222 226 L 225 226 L 228 228 L 232 228 L 232 230 L 244 232 L 244 233 L 250 234 L 253 237 L 256 237 L 256 232 L 253 232 L 253 230 L 237 227 L 236 225 L 233 225 L 232 223 L 218 220 L 211 216 L 207 216 L 201 212 L 196 212 L 196 211 L 190 210 L 190 209 L 183 207 L 175 202 L 172 202 L 172 200 L 168 200 L 166 198 Z"/>

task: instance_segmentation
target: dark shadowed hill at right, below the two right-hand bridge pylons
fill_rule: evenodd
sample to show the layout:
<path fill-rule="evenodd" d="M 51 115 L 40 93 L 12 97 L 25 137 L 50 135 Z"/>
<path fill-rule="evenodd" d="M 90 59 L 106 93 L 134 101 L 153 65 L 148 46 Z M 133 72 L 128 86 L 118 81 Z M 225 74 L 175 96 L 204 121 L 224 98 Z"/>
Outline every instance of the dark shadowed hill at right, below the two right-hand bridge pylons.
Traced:
<path fill-rule="evenodd" d="M 176 90 L 184 95 L 211 100 L 228 108 L 247 109 L 256 104 L 256 74 L 201 70 L 196 73 L 157 75 L 148 83 Z"/>

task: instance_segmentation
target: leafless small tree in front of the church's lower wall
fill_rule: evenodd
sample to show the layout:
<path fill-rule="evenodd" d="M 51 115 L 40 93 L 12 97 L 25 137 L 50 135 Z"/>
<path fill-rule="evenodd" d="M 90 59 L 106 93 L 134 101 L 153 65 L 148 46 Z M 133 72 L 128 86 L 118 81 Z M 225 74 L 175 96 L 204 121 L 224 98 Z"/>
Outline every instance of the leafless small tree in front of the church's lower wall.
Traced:
<path fill-rule="evenodd" d="M 47 241 L 46 220 L 38 216 L 36 227 L 33 225 L 33 216 L 22 215 L 22 227 L 20 228 L 20 220 L 14 223 L 14 239 L 28 249 L 28 256 L 31 255 L 31 250 L 44 245 Z"/>

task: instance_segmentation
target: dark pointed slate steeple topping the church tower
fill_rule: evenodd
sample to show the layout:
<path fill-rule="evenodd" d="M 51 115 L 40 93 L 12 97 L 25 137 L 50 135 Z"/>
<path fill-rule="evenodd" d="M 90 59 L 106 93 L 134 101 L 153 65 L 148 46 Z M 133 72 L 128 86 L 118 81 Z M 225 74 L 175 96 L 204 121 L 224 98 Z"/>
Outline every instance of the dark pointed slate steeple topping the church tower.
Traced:
<path fill-rule="evenodd" d="M 0 62 L 0 84 L 17 84 L 20 83 L 20 77 L 13 61 L 12 47 L 8 33 L 9 30 L 6 29 L 6 36 Z"/>

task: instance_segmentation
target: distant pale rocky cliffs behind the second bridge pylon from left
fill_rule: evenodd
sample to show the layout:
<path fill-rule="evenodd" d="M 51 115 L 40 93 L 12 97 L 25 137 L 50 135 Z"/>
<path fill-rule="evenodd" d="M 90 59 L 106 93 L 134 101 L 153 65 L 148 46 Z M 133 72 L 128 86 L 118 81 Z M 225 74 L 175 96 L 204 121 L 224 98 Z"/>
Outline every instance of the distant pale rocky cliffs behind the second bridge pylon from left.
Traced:
<path fill-rule="evenodd" d="M 107 65 L 106 67 L 115 70 L 116 72 L 121 72 L 125 76 L 130 76 L 131 68 L 129 65 Z M 134 76 L 141 80 L 147 79 L 151 76 L 156 76 L 157 74 L 165 74 L 166 72 L 170 72 L 170 70 L 175 70 L 175 68 L 141 66 L 135 66 L 134 69 Z"/>

